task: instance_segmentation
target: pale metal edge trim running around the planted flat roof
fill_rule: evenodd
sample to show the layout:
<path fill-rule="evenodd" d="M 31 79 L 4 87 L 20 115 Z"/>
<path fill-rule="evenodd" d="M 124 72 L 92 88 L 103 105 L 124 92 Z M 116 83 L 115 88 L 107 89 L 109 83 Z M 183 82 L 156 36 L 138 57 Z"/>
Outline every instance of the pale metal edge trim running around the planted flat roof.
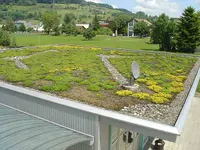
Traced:
<path fill-rule="evenodd" d="M 120 114 L 117 112 L 100 109 L 100 108 L 89 106 L 86 104 L 74 102 L 74 101 L 71 101 L 70 99 L 62 99 L 62 98 L 55 97 L 46 93 L 30 90 L 23 87 L 17 87 L 17 86 L 7 84 L 4 82 L 0 82 L 0 89 L 4 88 L 7 90 L 10 90 L 10 92 L 14 92 L 14 93 L 17 92 L 17 93 L 21 93 L 22 95 L 28 95 L 34 98 L 39 98 L 41 100 L 44 100 L 44 102 L 45 101 L 53 102 L 55 104 L 60 104 L 63 106 L 67 106 L 70 108 L 88 112 L 91 114 L 96 114 L 100 116 L 100 120 L 102 123 L 106 123 L 106 124 L 114 125 L 114 126 L 118 125 L 121 128 L 125 128 L 130 131 L 135 131 L 135 132 L 144 134 L 146 136 L 158 137 L 161 139 L 175 142 L 177 136 L 179 136 L 183 130 L 184 122 L 187 118 L 192 99 L 194 97 L 197 85 L 199 83 L 199 78 L 200 78 L 200 69 L 196 75 L 195 81 L 192 85 L 190 93 L 187 96 L 187 99 L 185 101 L 183 109 L 181 110 L 179 118 L 174 126 L 161 124 L 161 123 L 153 122 L 153 121 L 148 121 L 148 120 L 144 120 L 144 119 L 140 119 L 140 118 L 136 118 L 132 116 L 127 116 L 127 115 Z M 8 94 L 11 94 L 11 93 L 8 93 Z M 1 130 L 1 126 L 0 126 L 0 130 Z"/>

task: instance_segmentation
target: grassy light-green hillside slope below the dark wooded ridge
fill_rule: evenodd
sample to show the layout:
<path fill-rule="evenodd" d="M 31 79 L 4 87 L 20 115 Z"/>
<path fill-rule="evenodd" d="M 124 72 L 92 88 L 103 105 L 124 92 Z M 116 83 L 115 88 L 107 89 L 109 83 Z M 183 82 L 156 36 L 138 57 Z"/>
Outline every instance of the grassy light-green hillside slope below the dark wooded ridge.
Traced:
<path fill-rule="evenodd" d="M 0 22 L 8 18 L 12 20 L 28 20 L 32 23 L 40 22 L 41 15 L 45 11 L 56 11 L 62 19 L 66 13 L 73 13 L 77 23 L 90 23 L 94 15 L 97 14 L 101 20 L 110 20 L 117 13 L 130 12 L 124 10 L 104 7 L 101 5 L 87 3 L 86 4 L 58 4 L 53 7 L 52 4 L 37 3 L 35 5 L 22 6 L 16 4 L 0 6 Z"/>

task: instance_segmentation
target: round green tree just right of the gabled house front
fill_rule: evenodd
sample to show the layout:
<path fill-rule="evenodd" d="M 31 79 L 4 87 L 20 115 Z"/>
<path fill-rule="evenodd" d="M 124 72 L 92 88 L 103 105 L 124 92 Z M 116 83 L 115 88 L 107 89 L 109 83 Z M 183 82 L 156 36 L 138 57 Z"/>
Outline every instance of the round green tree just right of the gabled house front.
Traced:
<path fill-rule="evenodd" d="M 134 26 L 134 33 L 140 38 L 149 35 L 149 26 L 144 21 L 139 21 Z"/>

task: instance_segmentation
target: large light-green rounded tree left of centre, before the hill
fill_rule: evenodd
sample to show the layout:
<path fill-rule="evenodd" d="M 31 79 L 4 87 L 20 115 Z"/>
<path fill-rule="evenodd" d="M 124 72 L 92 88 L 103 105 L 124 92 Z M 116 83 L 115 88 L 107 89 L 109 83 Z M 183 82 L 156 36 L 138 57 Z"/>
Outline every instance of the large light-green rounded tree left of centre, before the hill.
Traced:
<path fill-rule="evenodd" d="M 45 12 L 42 15 L 42 23 L 44 25 L 44 30 L 47 34 L 50 34 L 51 31 L 57 32 L 60 20 L 58 14 L 55 12 Z"/>

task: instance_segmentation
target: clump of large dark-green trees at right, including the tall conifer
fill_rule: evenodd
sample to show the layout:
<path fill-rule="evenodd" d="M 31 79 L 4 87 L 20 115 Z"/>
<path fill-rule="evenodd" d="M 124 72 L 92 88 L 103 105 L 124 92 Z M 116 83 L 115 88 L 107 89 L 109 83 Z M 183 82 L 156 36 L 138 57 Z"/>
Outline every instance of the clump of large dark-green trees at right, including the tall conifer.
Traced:
<path fill-rule="evenodd" d="M 200 12 L 188 7 L 177 20 L 160 15 L 152 25 L 151 42 L 161 51 L 194 53 L 200 45 Z"/>

